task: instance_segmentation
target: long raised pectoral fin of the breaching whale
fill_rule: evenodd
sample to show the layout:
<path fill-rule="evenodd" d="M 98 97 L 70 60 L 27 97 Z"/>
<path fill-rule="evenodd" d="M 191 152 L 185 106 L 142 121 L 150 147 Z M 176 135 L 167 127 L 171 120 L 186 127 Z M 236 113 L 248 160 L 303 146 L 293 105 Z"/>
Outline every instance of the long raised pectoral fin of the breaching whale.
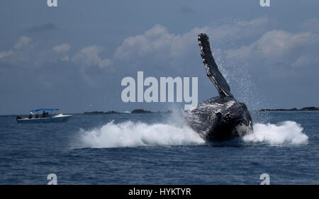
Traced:
<path fill-rule="evenodd" d="M 220 73 L 215 59 L 213 58 L 213 54 L 211 53 L 211 45 L 209 43 L 208 36 L 205 33 L 200 33 L 198 35 L 198 45 L 201 47 L 201 57 L 203 58 L 203 64 L 207 70 L 207 76 L 209 79 L 211 79 L 211 81 L 213 81 L 213 84 L 215 84 L 220 97 L 233 97 L 233 95 L 230 93 L 230 86 L 228 85 L 223 74 Z"/>

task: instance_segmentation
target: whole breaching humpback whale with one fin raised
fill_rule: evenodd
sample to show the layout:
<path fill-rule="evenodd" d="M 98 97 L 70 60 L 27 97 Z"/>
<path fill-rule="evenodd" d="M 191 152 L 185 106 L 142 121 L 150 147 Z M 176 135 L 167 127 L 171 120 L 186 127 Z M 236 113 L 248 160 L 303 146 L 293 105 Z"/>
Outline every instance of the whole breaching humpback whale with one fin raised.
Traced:
<path fill-rule="evenodd" d="M 252 132 L 252 118 L 245 103 L 236 101 L 230 86 L 220 73 L 211 52 L 208 35 L 198 35 L 201 57 L 207 76 L 218 90 L 219 96 L 199 103 L 186 111 L 184 118 L 188 125 L 204 140 L 223 142 Z"/>

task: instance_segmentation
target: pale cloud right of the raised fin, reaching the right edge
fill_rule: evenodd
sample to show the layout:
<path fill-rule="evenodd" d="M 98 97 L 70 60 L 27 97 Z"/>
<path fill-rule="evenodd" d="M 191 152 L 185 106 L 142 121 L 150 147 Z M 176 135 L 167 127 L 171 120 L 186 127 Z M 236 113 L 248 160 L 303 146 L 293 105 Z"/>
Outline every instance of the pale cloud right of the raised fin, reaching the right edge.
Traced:
<path fill-rule="evenodd" d="M 272 30 L 250 45 L 228 50 L 227 57 L 247 59 L 254 66 L 259 63 L 257 65 L 260 67 L 276 67 L 277 63 L 301 67 L 317 62 L 315 52 L 319 50 L 318 45 L 319 35 L 316 33 Z"/>

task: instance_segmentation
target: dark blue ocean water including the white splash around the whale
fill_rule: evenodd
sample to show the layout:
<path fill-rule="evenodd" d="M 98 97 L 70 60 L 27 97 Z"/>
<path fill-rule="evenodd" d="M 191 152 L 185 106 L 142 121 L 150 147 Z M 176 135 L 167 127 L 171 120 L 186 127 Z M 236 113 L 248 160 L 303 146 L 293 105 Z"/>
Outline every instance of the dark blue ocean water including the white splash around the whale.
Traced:
<path fill-rule="evenodd" d="M 0 183 L 319 183 L 319 111 L 252 113 L 254 134 L 205 142 L 170 113 L 76 114 L 67 123 L 0 116 Z"/>

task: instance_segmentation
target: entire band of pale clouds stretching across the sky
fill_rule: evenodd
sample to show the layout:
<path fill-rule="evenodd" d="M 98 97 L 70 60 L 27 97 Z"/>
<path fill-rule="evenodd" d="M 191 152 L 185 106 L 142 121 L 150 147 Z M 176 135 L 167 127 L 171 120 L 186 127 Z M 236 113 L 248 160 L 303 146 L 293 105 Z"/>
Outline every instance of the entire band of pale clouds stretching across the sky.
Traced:
<path fill-rule="evenodd" d="M 55 45 L 48 50 L 37 50 L 31 38 L 22 36 L 11 49 L 0 52 L 0 61 L 16 65 L 19 62 L 30 62 L 38 66 L 56 60 L 72 61 L 81 67 L 82 72 L 89 67 L 125 67 L 133 70 L 151 67 L 157 69 L 157 72 L 194 72 L 200 63 L 196 39 L 198 33 L 204 32 L 210 37 L 218 63 L 227 62 L 230 58 L 245 59 L 254 67 L 273 68 L 280 63 L 285 67 L 296 68 L 319 63 L 315 55 L 319 50 L 319 35 L 315 30 L 310 31 L 311 25 L 318 22 L 318 19 L 313 18 L 301 23 L 301 26 L 308 28 L 303 33 L 269 30 L 272 20 L 267 17 L 193 28 L 181 34 L 171 33 L 164 26 L 155 25 L 144 33 L 125 38 L 109 58 L 103 57 L 103 48 L 97 45 L 82 47 L 73 56 L 67 55 L 71 48 L 68 43 Z M 233 43 L 238 47 L 230 49 Z M 242 43 L 250 45 L 240 46 Z"/>

